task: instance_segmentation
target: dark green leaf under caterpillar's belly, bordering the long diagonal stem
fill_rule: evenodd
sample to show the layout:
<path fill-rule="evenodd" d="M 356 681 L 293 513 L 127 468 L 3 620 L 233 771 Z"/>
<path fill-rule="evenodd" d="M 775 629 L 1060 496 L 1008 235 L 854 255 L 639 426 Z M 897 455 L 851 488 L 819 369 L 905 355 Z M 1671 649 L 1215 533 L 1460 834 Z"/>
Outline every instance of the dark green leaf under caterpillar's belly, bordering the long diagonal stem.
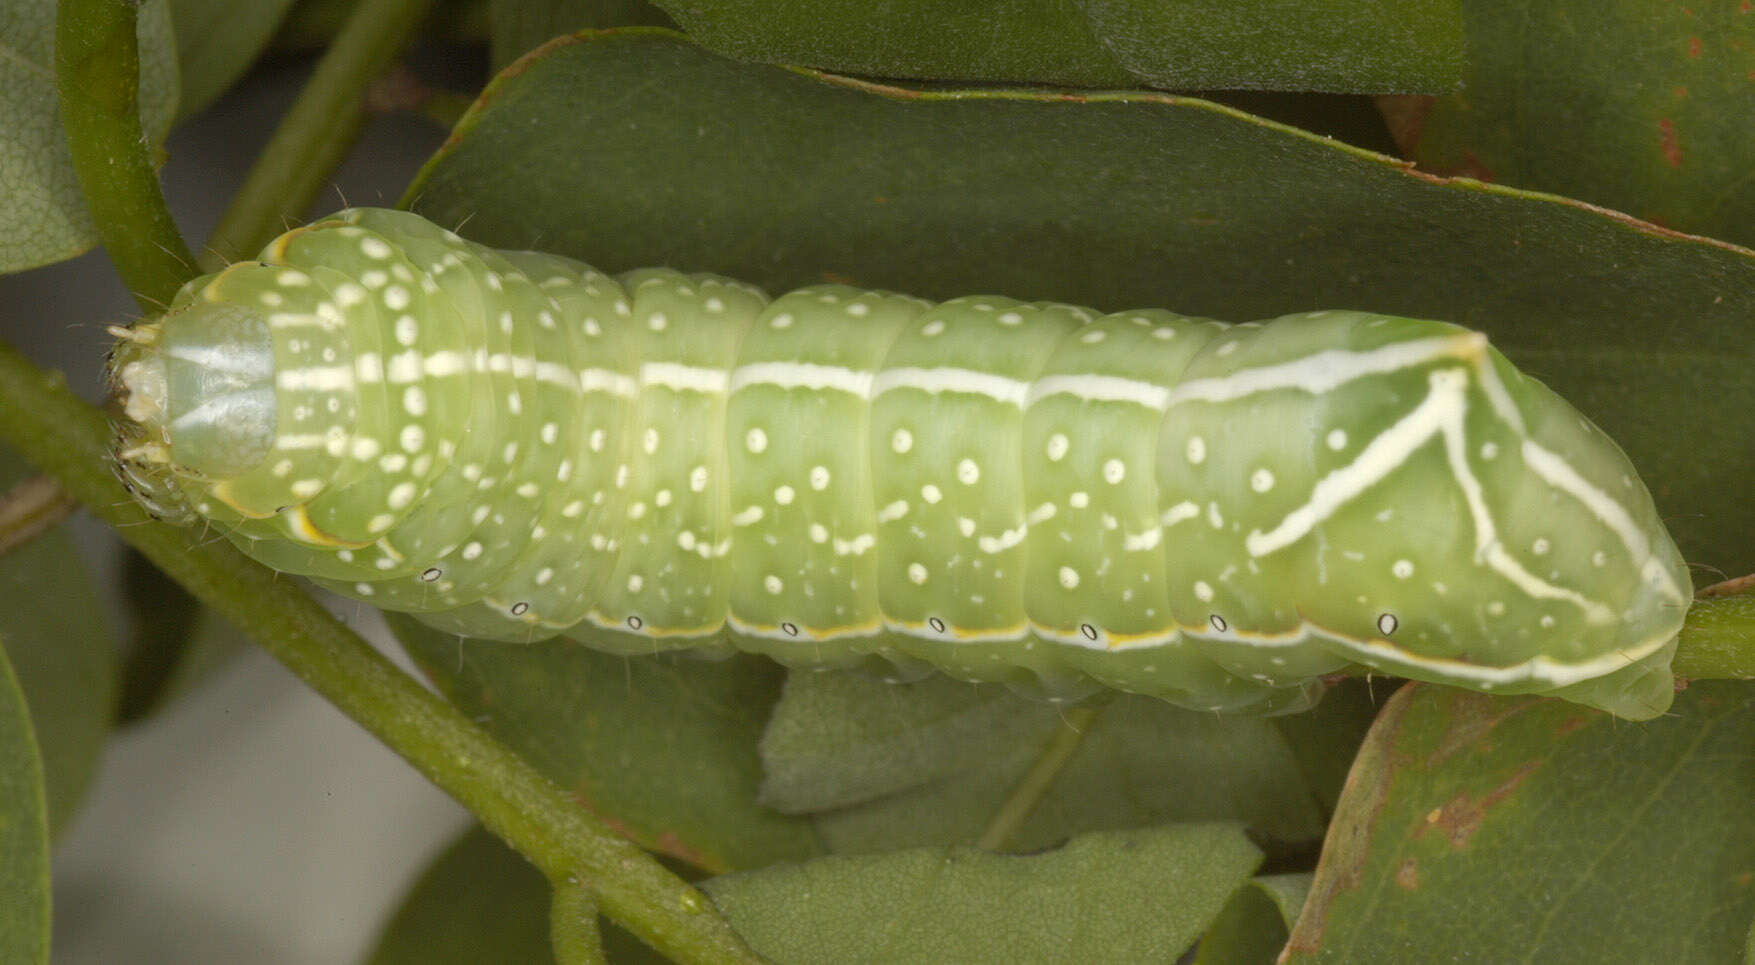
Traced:
<path fill-rule="evenodd" d="M 623 658 L 555 639 L 462 640 L 390 614 L 428 679 L 641 846 L 711 872 L 821 853 L 756 804 L 756 740 L 781 670 L 760 658 Z"/>

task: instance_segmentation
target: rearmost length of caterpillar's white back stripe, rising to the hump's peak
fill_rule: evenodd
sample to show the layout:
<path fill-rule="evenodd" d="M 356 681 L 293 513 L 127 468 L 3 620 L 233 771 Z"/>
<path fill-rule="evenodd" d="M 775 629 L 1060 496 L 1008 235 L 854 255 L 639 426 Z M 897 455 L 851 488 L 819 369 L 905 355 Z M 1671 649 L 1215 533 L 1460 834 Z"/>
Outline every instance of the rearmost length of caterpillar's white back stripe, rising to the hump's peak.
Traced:
<path fill-rule="evenodd" d="M 1171 391 L 1171 405 L 1183 402 L 1228 402 L 1260 391 L 1299 390 L 1322 395 L 1353 379 L 1395 372 L 1436 358 L 1472 360 L 1486 349 L 1486 335 L 1437 335 L 1395 342 L 1362 353 L 1323 349 L 1293 361 L 1244 368 L 1216 379 L 1193 379 Z"/>

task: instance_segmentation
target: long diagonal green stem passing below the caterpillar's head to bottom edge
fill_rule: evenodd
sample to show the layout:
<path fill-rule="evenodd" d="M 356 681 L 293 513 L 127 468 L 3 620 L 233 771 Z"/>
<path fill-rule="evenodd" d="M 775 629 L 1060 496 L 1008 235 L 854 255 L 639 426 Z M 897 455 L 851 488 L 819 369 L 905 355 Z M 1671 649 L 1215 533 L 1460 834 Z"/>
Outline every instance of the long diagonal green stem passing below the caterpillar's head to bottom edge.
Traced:
<path fill-rule="evenodd" d="M 109 470 L 109 419 L 0 344 L 0 439 L 197 598 L 230 618 L 376 733 L 549 881 L 579 881 L 604 914 L 679 961 L 756 961 L 713 904 L 618 837 L 455 707 L 397 670 L 290 581 L 230 544 L 146 518 Z"/>

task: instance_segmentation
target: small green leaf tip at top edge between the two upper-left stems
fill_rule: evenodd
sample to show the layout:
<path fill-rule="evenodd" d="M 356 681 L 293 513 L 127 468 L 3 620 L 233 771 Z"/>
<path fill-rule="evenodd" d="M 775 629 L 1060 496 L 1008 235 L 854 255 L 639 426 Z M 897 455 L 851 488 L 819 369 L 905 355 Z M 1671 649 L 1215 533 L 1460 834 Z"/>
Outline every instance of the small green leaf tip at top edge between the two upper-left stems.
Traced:
<path fill-rule="evenodd" d="M 212 104 L 256 63 L 293 0 L 168 0 L 177 32 L 177 74 L 188 118 Z"/>

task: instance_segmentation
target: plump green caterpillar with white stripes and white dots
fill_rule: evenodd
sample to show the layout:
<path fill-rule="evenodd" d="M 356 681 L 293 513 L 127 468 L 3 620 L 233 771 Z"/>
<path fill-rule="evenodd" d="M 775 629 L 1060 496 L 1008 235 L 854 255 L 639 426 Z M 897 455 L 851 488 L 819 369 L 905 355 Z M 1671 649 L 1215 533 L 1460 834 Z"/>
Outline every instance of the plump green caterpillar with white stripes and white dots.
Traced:
<path fill-rule="evenodd" d="M 1358 665 L 1669 705 L 1690 583 L 1650 495 L 1446 323 L 770 300 L 351 209 L 123 335 L 146 505 L 470 637 L 1227 712 Z"/>

